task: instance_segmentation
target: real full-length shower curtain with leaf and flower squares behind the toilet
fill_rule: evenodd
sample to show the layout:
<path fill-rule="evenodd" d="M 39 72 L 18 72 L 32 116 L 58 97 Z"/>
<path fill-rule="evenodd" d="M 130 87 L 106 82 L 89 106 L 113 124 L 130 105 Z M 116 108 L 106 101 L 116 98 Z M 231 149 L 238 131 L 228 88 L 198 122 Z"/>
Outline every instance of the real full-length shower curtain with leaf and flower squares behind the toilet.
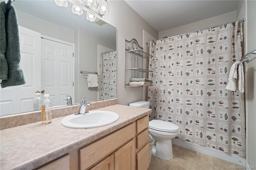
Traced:
<path fill-rule="evenodd" d="M 151 117 L 178 125 L 180 140 L 246 156 L 244 93 L 226 89 L 242 36 L 234 22 L 150 42 Z"/>

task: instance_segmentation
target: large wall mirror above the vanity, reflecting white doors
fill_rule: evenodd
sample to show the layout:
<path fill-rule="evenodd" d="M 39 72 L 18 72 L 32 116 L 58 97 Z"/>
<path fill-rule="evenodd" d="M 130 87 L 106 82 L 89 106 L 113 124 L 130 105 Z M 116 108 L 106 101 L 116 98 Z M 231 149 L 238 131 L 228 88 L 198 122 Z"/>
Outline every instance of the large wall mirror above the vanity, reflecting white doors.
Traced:
<path fill-rule="evenodd" d="M 0 89 L 1 116 L 33 111 L 36 91 L 49 94 L 53 107 L 66 106 L 67 96 L 73 105 L 84 97 L 88 102 L 116 98 L 115 27 L 86 20 L 86 11 L 73 14 L 70 2 L 66 8 L 54 0 L 15 0 L 12 5 L 26 84 Z M 90 83 L 95 77 L 88 81 L 95 72 L 96 87 Z M 39 95 L 42 102 L 44 94 Z"/>

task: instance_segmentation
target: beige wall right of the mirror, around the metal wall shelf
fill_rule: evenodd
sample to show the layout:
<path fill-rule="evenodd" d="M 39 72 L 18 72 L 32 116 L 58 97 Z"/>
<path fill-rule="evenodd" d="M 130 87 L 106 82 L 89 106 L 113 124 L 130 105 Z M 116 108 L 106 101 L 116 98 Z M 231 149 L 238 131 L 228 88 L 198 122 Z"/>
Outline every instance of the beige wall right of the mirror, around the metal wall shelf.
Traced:
<path fill-rule="evenodd" d="M 124 87 L 124 42 L 125 38 L 136 38 L 140 46 L 143 45 L 142 32 L 158 37 L 158 32 L 152 28 L 141 16 L 123 0 L 108 1 L 108 14 L 102 20 L 117 28 L 117 97 L 118 103 L 129 103 L 143 100 L 142 87 Z"/>

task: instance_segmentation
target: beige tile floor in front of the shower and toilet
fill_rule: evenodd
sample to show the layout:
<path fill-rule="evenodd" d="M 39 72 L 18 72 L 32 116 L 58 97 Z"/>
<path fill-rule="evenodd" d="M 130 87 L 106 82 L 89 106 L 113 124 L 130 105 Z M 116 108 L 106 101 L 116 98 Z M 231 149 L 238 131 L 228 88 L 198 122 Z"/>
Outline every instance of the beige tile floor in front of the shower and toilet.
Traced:
<path fill-rule="evenodd" d="M 162 160 L 151 157 L 148 170 L 230 170 L 232 162 L 172 145 L 173 159 Z"/>

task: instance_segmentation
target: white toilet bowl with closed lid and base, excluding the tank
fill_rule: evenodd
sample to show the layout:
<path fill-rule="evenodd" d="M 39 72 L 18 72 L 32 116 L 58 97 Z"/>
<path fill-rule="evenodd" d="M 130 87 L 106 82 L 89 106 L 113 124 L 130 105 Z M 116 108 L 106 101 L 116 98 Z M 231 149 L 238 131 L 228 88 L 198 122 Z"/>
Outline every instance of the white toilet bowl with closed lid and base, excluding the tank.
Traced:
<path fill-rule="evenodd" d="M 173 123 L 160 120 L 152 120 L 149 122 L 149 134 L 155 143 L 152 149 L 152 155 L 160 159 L 171 160 L 172 139 L 178 135 L 179 127 Z"/>

